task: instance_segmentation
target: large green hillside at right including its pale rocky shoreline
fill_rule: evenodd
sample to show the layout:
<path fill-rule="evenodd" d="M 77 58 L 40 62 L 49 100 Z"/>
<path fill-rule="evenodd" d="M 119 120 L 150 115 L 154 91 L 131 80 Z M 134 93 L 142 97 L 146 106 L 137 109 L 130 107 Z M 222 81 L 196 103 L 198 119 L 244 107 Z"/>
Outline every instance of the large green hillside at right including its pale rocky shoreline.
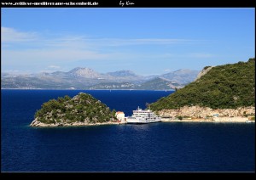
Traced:
<path fill-rule="evenodd" d="M 169 119 L 237 117 L 255 121 L 255 58 L 236 64 L 207 66 L 195 82 L 150 104 Z M 239 120 L 239 118 L 237 120 Z"/>

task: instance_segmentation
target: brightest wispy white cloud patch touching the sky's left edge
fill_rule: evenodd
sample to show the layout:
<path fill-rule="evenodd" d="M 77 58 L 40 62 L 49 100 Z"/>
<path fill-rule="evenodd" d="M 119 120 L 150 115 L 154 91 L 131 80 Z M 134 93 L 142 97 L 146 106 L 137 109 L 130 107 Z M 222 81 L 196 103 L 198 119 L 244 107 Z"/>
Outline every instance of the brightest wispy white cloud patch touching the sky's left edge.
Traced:
<path fill-rule="evenodd" d="M 27 42 L 37 39 L 35 32 L 21 32 L 13 28 L 1 27 L 1 41 L 2 42 Z"/>

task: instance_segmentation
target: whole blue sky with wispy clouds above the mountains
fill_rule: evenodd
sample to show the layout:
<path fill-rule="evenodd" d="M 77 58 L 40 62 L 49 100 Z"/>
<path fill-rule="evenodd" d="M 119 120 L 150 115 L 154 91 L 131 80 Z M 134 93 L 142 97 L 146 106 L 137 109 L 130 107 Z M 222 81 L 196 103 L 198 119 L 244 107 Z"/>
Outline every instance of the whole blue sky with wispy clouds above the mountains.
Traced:
<path fill-rule="evenodd" d="M 254 8 L 2 8 L 1 68 L 147 76 L 233 64 L 254 57 L 254 14 Z"/>

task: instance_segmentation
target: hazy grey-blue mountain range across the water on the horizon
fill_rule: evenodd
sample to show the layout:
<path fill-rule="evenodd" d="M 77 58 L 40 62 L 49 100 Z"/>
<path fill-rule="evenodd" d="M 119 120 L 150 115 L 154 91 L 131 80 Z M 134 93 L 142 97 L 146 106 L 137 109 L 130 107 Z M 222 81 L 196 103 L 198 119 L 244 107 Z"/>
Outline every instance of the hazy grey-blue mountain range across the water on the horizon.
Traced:
<path fill-rule="evenodd" d="M 160 76 L 140 76 L 131 70 L 99 73 L 90 68 L 15 75 L 1 74 L 1 88 L 15 89 L 145 89 L 172 90 L 193 82 L 199 70 L 176 70 Z"/>

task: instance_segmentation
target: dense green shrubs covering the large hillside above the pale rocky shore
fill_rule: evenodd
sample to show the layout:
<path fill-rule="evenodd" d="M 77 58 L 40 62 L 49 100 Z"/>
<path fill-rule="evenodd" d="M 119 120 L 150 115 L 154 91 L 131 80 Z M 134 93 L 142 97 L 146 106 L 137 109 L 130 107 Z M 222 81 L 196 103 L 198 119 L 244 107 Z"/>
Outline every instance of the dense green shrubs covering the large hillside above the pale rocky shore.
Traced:
<path fill-rule="evenodd" d="M 255 106 L 255 59 L 218 65 L 195 82 L 150 104 L 151 110 L 200 105 L 212 109 Z"/>

